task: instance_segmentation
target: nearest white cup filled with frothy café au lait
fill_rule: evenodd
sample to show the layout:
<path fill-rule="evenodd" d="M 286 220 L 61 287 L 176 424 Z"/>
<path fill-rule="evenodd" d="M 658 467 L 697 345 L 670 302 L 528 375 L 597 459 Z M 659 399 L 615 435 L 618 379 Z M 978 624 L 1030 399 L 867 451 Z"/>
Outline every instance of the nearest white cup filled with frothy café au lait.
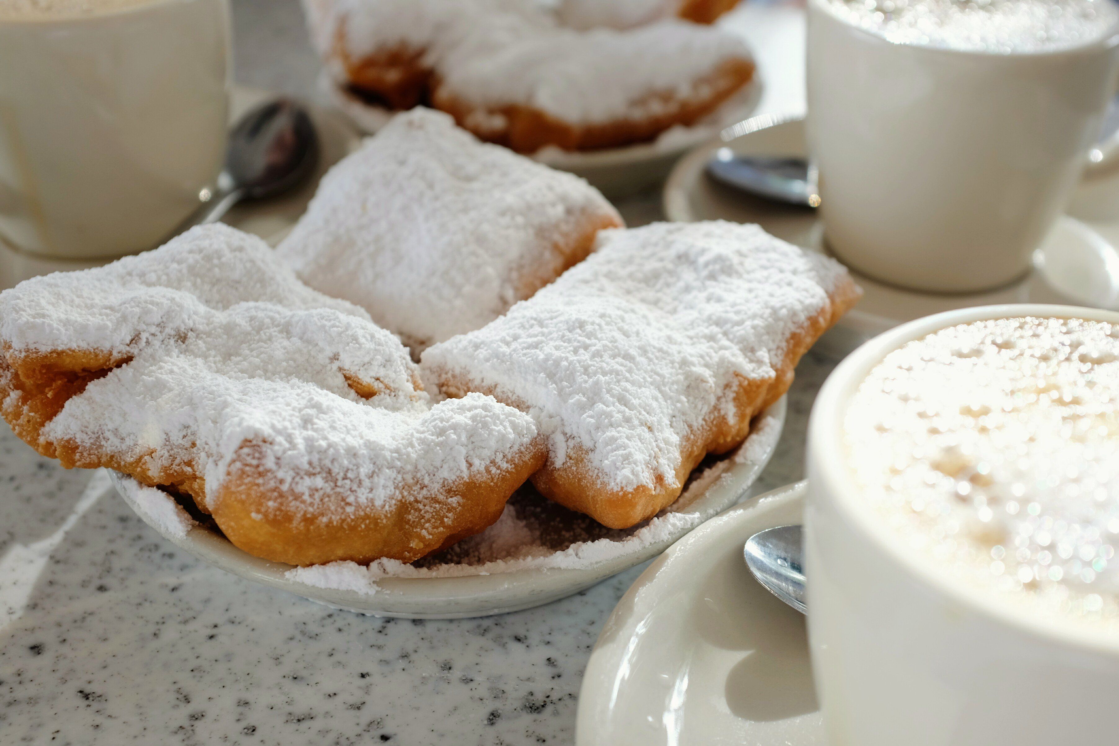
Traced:
<path fill-rule="evenodd" d="M 1119 314 L 952 311 L 871 340 L 809 423 L 830 746 L 1116 742 Z"/>

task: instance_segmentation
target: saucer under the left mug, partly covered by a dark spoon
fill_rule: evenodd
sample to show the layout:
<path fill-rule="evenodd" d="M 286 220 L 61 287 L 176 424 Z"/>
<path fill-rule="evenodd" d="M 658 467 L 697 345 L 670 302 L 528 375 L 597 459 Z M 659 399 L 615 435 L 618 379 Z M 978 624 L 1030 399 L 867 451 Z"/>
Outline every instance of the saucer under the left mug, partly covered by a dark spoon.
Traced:
<path fill-rule="evenodd" d="M 234 86 L 229 94 L 231 122 L 272 96 L 273 94 L 266 91 Z M 311 105 L 308 105 L 308 111 L 319 135 L 319 164 L 312 177 L 301 187 L 280 197 L 260 202 L 242 202 L 226 214 L 222 219 L 223 223 L 256 234 L 275 245 L 307 209 L 307 204 L 314 196 L 319 179 L 327 169 L 348 155 L 361 142 L 361 134 L 340 112 Z M 13 287 L 23 280 L 37 275 L 87 270 L 111 261 L 51 259 L 18 252 L 0 240 L 0 290 Z"/>

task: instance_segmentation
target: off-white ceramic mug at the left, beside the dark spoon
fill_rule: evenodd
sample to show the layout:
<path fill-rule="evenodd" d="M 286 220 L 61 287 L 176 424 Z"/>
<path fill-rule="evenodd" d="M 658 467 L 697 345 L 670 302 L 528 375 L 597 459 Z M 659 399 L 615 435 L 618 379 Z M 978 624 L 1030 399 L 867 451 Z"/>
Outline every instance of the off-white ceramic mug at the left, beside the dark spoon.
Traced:
<path fill-rule="evenodd" d="M 0 238 L 87 259 L 151 248 L 225 154 L 228 0 L 0 20 Z"/>

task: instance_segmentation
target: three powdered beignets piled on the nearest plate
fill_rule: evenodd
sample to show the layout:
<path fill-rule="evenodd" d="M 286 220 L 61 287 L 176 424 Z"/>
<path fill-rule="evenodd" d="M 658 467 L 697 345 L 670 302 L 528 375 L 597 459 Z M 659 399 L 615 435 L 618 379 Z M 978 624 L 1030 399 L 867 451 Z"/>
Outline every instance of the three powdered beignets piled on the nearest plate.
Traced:
<path fill-rule="evenodd" d="M 623 528 L 742 443 L 857 299 L 840 265 L 756 226 L 610 228 L 579 262 L 618 224 L 593 189 L 443 115 L 394 126 L 325 179 L 283 253 L 325 290 L 352 275 L 374 320 L 224 226 L 37 277 L 0 293 L 17 435 L 298 565 L 414 560 L 491 525 L 529 478 Z M 375 321 L 436 343 L 417 366 Z"/>

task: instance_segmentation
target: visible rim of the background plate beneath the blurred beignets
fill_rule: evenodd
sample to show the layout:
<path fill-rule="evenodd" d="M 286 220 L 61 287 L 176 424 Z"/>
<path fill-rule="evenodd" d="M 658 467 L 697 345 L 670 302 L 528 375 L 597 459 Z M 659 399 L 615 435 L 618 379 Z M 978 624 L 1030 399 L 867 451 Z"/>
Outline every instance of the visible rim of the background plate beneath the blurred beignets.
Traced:
<path fill-rule="evenodd" d="M 392 119 L 393 112 L 365 103 L 339 88 L 326 75 L 319 77 L 319 88 L 365 132 L 376 132 Z M 664 181 L 681 154 L 709 140 L 727 124 L 750 116 L 761 95 L 762 83 L 755 73 L 750 85 L 704 122 L 690 128 L 669 130 L 655 142 L 591 152 L 568 152 L 552 148 L 542 150 L 533 158 L 552 168 L 583 177 L 610 199 L 621 199 Z"/>

